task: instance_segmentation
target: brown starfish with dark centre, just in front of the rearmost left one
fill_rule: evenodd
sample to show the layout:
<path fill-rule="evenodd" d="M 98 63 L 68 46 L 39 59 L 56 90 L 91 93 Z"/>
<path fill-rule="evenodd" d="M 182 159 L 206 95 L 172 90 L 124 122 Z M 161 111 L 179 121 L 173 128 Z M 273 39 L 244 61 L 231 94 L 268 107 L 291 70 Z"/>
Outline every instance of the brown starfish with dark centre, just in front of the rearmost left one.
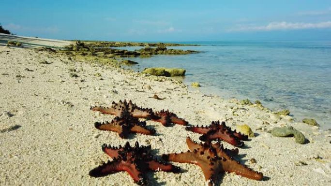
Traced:
<path fill-rule="evenodd" d="M 155 134 L 155 129 L 146 128 L 145 121 L 139 121 L 138 118 L 133 117 L 127 111 L 123 111 L 121 117 L 116 116 L 109 122 L 96 122 L 95 128 L 100 130 L 111 130 L 119 133 L 121 138 L 127 138 L 129 133 L 140 133 L 146 135 Z"/>

